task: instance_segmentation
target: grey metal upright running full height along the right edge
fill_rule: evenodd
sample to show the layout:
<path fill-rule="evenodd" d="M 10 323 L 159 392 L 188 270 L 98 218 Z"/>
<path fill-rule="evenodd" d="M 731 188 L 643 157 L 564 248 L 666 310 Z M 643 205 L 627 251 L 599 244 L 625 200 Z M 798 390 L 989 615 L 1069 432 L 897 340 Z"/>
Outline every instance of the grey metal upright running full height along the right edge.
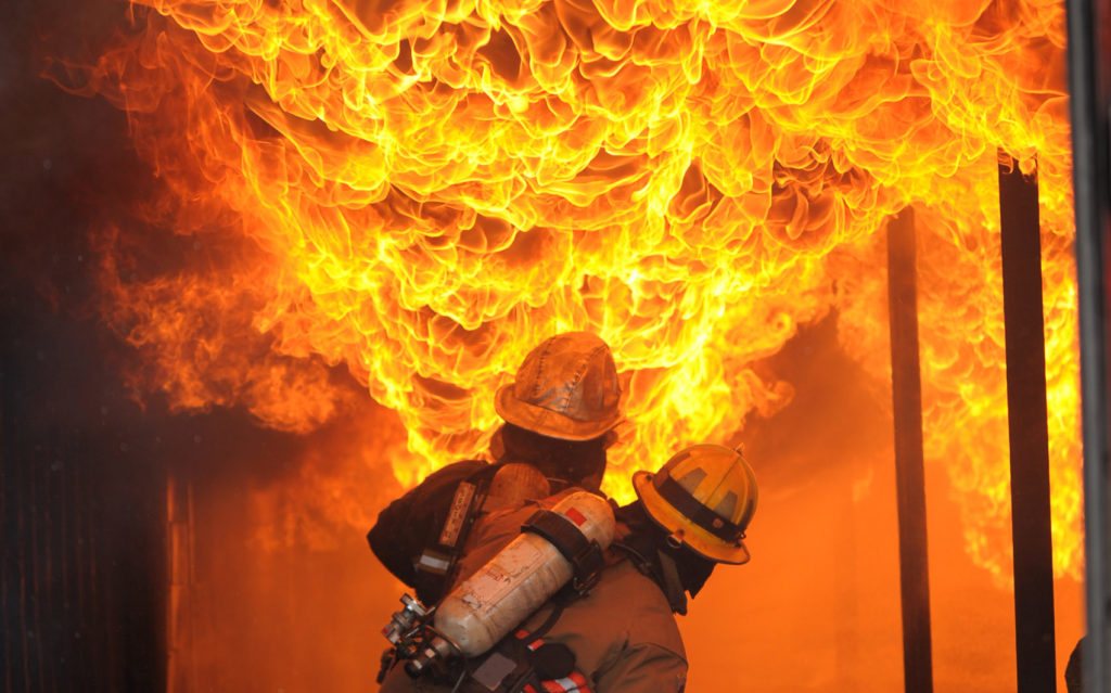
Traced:
<path fill-rule="evenodd" d="M 1111 354 L 1108 323 L 1109 116 L 1111 44 L 1107 0 L 1067 0 L 1072 175 L 1077 215 L 1080 391 L 1084 454 L 1084 552 L 1088 636 L 1082 653 L 1085 691 L 1111 691 L 1111 515 L 1108 512 Z M 1101 40 L 1102 39 L 1102 40 Z"/>

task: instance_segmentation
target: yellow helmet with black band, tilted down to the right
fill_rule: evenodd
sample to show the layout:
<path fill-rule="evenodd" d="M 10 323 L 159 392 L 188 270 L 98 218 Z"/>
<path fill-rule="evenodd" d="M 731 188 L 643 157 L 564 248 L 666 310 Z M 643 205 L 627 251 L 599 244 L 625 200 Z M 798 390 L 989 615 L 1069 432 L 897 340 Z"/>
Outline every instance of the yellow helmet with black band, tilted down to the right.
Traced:
<path fill-rule="evenodd" d="M 737 450 L 691 445 L 659 472 L 637 472 L 637 495 L 675 541 L 711 561 L 747 563 L 744 530 L 757 511 L 757 478 Z"/>

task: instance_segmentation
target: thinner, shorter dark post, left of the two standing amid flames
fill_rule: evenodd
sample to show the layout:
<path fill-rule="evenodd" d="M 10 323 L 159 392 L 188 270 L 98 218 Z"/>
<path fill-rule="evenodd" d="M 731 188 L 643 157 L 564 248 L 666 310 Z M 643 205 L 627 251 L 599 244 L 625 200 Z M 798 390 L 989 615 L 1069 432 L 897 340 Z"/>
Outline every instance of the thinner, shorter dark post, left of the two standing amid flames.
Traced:
<path fill-rule="evenodd" d="M 888 314 L 891 321 L 891 395 L 895 426 L 903 685 L 907 693 L 932 693 L 914 239 L 914 213 L 908 207 L 888 222 Z"/>

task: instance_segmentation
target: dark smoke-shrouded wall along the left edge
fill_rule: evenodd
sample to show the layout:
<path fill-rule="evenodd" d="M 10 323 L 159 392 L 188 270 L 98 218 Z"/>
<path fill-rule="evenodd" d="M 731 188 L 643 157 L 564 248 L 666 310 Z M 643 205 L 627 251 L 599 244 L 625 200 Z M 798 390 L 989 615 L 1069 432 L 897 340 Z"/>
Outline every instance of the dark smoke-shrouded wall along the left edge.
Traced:
<path fill-rule="evenodd" d="M 96 36 L 121 9 L 53 1 L 0 9 L 4 691 L 158 691 L 164 680 L 172 454 L 116 374 L 119 346 L 86 317 L 94 201 L 118 197 L 140 167 L 118 111 L 39 77 L 67 26 L 86 22 Z M 60 33 L 48 31 L 51 21 Z"/>

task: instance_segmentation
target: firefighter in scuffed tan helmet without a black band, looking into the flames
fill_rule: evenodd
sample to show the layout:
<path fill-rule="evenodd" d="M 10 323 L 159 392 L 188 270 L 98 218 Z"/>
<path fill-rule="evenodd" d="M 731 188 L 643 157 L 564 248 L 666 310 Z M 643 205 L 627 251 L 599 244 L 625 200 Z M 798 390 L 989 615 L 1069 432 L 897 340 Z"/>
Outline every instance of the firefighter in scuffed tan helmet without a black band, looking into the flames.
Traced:
<path fill-rule="evenodd" d="M 613 355 L 589 332 L 549 338 L 498 391 L 494 409 L 504 423 L 491 440 L 493 463 L 439 470 L 387 506 L 367 534 L 374 555 L 424 603 L 442 596 L 482 512 L 568 486 L 598 491 L 622 420 Z"/>

